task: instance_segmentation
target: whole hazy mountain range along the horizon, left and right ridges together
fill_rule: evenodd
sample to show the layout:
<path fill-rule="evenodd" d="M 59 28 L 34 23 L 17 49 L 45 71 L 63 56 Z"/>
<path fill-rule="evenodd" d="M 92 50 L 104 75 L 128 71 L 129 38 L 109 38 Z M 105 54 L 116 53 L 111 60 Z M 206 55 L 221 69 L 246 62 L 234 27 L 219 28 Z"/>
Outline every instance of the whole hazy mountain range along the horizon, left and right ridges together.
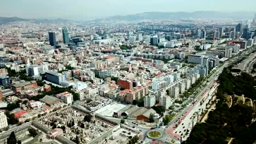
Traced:
<path fill-rule="evenodd" d="M 93 21 L 101 20 L 167 20 L 167 19 L 180 19 L 180 18 L 230 18 L 230 19 L 252 19 L 253 12 L 218 12 L 218 11 L 194 11 L 194 12 L 145 12 L 133 15 L 117 15 L 103 19 L 96 19 Z M 66 19 L 22 19 L 20 17 L 0 17 L 0 23 L 8 23 L 15 21 L 35 21 L 35 22 L 67 22 L 71 20 Z"/>

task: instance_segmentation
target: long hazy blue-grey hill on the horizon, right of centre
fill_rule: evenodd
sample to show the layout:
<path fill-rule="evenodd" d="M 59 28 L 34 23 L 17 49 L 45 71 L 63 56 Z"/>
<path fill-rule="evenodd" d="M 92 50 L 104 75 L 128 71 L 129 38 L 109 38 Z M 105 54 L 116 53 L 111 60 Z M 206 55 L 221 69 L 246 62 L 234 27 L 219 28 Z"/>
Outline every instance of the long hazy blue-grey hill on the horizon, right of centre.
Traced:
<path fill-rule="evenodd" d="M 253 17 L 254 13 L 251 12 L 235 12 L 235 13 L 224 13 L 218 11 L 194 11 L 191 13 L 188 12 L 146 12 L 135 15 L 126 15 L 126 16 L 112 16 L 106 19 L 98 20 L 165 20 L 165 19 L 178 19 L 178 18 L 232 18 L 232 19 L 246 19 Z"/>

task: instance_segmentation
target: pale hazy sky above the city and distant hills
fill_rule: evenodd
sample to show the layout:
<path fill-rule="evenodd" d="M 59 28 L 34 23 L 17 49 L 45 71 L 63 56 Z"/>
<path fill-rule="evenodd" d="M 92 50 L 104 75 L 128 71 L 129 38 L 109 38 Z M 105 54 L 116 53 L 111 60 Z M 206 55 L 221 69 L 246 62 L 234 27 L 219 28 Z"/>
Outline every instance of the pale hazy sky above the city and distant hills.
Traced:
<path fill-rule="evenodd" d="M 95 19 L 148 11 L 256 11 L 256 0 L 1 0 L 0 16 Z"/>

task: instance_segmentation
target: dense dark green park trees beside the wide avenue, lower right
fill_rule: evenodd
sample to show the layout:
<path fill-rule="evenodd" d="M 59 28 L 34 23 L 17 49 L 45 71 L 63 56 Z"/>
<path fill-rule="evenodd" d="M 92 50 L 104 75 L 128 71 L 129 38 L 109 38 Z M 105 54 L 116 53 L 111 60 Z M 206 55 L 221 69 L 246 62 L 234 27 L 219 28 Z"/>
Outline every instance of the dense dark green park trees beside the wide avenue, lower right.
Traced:
<path fill-rule="evenodd" d="M 216 110 L 210 111 L 206 123 L 197 123 L 187 141 L 183 143 L 228 143 L 227 137 L 235 137 L 232 143 L 253 143 L 256 140 L 256 124 L 252 124 L 253 109 L 247 105 L 229 106 L 226 94 L 245 94 L 255 99 L 255 79 L 246 73 L 233 76 L 228 69 L 219 75 L 216 93 L 219 99 Z"/>

